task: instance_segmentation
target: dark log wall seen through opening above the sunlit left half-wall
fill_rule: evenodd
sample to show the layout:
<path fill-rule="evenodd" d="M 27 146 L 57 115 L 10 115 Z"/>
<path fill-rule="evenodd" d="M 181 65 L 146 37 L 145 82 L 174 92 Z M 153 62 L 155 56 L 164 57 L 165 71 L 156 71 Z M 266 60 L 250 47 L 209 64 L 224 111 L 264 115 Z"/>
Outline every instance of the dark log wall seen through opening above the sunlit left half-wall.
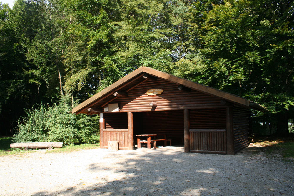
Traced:
<path fill-rule="evenodd" d="M 106 129 L 128 129 L 127 113 L 105 113 Z"/>

